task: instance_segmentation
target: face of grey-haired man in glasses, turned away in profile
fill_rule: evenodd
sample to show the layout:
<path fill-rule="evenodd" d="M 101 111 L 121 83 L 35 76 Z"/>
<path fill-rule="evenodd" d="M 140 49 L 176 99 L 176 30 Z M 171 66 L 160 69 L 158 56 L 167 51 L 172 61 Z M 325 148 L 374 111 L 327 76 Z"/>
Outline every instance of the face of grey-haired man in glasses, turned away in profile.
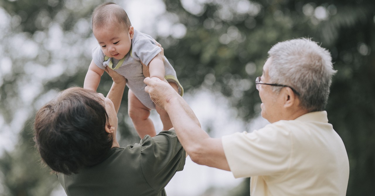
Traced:
<path fill-rule="evenodd" d="M 268 75 L 272 59 L 269 58 L 263 66 L 263 74 L 261 76 L 262 83 L 270 83 L 270 76 Z M 278 93 L 272 91 L 271 85 L 259 84 L 259 96 L 261 103 L 261 115 L 270 123 L 281 120 L 282 114 L 282 99 Z"/>

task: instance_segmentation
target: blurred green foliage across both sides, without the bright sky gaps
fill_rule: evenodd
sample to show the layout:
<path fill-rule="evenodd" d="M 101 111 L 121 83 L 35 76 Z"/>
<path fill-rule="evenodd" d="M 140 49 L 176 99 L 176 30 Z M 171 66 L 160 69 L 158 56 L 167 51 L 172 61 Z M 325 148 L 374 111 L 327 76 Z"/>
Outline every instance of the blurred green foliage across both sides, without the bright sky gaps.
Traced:
<path fill-rule="evenodd" d="M 8 28 L 0 29 L 4 34 L 0 37 L 2 45 L 9 45 L 0 48 L 9 54 L 7 61 L 0 63 L 10 60 L 12 66 L 10 72 L 0 73 L 0 117 L 5 128 L 13 130 L 15 118 L 20 117 L 17 109 L 22 109 L 21 116 L 26 115 L 25 123 L 16 130 L 20 135 L 17 145 L 0 159 L 0 195 L 50 195 L 57 186 L 54 175 L 40 167 L 33 147 L 33 114 L 56 91 L 83 85 L 90 55 L 82 46 L 87 45 L 91 36 L 90 26 L 83 28 L 83 24 L 90 24 L 90 14 L 101 2 L 0 1 L 0 16 L 10 21 Z M 181 84 L 186 91 L 207 87 L 221 92 L 244 121 L 259 114 L 260 99 L 254 80 L 261 75 L 272 45 L 287 39 L 312 37 L 329 49 L 338 73 L 326 109 L 350 159 L 347 195 L 375 195 L 374 0 L 207 0 L 192 1 L 193 7 L 184 0 L 164 2 L 171 20 L 186 27 L 186 34 L 180 39 L 155 37 L 165 48 Z M 55 27 L 63 31 L 57 37 L 60 40 L 52 39 Z M 37 52 L 28 56 L 14 54 L 12 44 L 17 39 L 23 43 L 33 40 Z M 57 44 L 75 55 L 55 51 Z M 50 75 L 47 72 L 44 79 L 30 76 L 34 72 L 26 67 L 47 68 L 56 62 L 66 65 L 62 73 L 47 77 Z M 104 77 L 98 91 L 106 93 L 110 78 Z M 38 82 L 37 96 L 23 103 L 20 98 L 23 86 Z M 119 119 L 126 119 L 126 96 L 119 113 Z M 120 121 L 121 145 L 138 140 L 131 129 L 125 121 Z M 249 195 L 248 180 L 244 182 L 227 194 Z"/>

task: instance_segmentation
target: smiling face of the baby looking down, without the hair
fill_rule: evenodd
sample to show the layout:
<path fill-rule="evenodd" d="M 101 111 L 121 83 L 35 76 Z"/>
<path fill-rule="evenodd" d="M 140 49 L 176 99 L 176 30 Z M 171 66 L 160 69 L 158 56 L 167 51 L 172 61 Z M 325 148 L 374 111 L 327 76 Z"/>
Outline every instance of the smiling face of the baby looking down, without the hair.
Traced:
<path fill-rule="evenodd" d="M 104 55 L 120 60 L 129 52 L 134 36 L 132 26 L 127 30 L 117 27 L 102 27 L 93 29 L 94 36 L 102 47 Z"/>

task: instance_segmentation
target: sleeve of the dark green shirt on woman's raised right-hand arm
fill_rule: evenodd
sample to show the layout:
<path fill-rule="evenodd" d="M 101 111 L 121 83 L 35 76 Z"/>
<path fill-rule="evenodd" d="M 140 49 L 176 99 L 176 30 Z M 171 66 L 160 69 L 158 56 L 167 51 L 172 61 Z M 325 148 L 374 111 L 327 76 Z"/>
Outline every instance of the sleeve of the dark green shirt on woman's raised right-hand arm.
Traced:
<path fill-rule="evenodd" d="M 162 131 L 154 137 L 142 139 L 141 168 L 145 180 L 156 191 L 161 191 L 177 171 L 185 165 L 186 153 L 174 130 Z"/>

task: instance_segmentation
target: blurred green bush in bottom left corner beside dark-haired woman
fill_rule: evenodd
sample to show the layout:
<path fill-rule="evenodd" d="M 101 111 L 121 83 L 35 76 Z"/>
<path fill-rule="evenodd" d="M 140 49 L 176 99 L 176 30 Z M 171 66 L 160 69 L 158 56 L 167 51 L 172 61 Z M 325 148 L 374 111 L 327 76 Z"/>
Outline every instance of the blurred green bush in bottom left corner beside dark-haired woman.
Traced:
<path fill-rule="evenodd" d="M 25 131 L 14 151 L 0 159 L 0 171 L 3 174 L 4 196 L 49 196 L 57 187 L 56 175 L 51 175 L 49 169 L 40 168 L 40 156 L 34 150 L 31 122 L 26 123 Z M 5 178 L 4 178 L 5 177 Z"/>

